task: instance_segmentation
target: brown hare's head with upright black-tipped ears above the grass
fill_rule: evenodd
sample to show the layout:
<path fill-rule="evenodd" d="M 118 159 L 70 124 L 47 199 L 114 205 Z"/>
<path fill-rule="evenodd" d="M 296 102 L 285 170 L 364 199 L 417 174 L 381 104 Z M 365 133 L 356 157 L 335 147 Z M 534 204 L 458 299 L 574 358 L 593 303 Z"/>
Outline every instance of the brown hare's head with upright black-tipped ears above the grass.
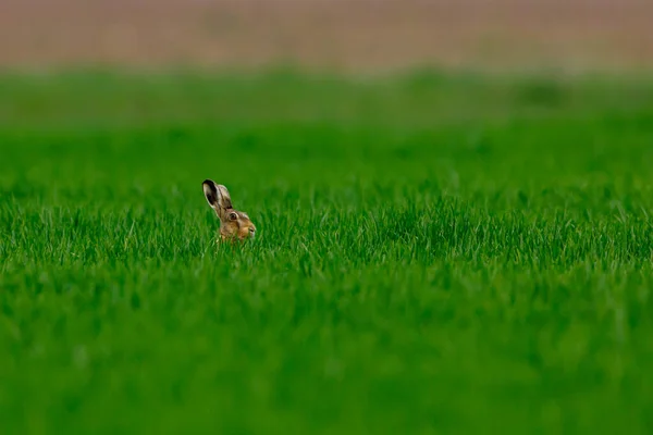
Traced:
<path fill-rule="evenodd" d="M 205 179 L 201 184 L 209 206 L 220 219 L 220 238 L 222 240 L 245 240 L 256 236 L 256 226 L 247 213 L 234 210 L 229 190 L 212 179 Z"/>

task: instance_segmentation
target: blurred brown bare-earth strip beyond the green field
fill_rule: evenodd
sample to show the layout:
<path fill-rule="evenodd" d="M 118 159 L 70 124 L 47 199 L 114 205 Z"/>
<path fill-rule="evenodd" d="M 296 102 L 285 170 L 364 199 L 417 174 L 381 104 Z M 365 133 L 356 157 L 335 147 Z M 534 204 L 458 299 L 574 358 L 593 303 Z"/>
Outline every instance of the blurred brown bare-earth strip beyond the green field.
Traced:
<path fill-rule="evenodd" d="M 653 65 L 645 0 L 2 0 L 0 67 Z"/>

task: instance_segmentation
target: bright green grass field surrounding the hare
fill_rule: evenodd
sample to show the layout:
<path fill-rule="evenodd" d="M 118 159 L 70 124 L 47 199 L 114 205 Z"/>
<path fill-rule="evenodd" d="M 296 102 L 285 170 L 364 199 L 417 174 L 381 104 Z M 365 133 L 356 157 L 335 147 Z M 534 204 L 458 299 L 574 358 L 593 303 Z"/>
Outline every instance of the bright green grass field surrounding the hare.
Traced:
<path fill-rule="evenodd" d="M 653 80 L 0 95 L 1 433 L 652 433 Z"/>

